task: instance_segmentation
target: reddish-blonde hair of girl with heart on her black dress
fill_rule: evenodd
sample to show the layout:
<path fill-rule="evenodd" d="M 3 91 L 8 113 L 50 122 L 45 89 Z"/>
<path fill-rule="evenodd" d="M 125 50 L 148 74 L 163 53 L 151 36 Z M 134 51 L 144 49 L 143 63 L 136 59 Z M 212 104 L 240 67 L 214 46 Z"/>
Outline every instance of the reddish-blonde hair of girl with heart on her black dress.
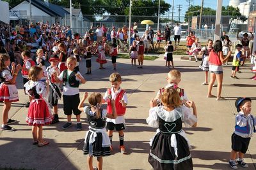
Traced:
<path fill-rule="evenodd" d="M 164 106 L 167 106 L 168 108 L 175 108 L 182 105 L 179 92 L 176 89 L 173 89 L 173 87 L 168 87 L 167 89 L 164 89 L 164 92 L 161 96 L 161 101 Z"/>

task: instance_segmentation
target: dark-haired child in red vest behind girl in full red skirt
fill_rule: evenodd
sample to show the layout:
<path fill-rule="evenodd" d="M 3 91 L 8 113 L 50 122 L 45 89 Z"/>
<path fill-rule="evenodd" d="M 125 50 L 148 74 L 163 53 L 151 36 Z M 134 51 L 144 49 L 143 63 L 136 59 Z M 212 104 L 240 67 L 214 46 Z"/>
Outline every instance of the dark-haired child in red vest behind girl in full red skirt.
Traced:
<path fill-rule="evenodd" d="M 24 51 L 21 53 L 22 59 L 23 59 L 23 66 L 21 70 L 21 74 L 23 77 L 23 85 L 25 85 L 28 82 L 28 73 L 29 69 L 31 69 L 32 66 L 35 66 L 35 61 L 31 59 L 31 53 L 29 51 Z M 24 87 L 25 92 L 25 87 Z M 25 92 L 26 94 L 26 92 Z M 29 102 L 25 104 L 25 107 L 28 108 L 30 101 L 32 100 L 32 97 L 29 96 Z"/>

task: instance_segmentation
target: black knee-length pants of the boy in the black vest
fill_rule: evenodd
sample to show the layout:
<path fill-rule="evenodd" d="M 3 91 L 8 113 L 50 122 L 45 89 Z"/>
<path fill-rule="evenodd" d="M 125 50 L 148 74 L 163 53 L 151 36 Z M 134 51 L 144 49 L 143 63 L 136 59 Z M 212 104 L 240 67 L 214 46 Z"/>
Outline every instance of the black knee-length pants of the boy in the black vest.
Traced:
<path fill-rule="evenodd" d="M 78 110 L 78 104 L 80 103 L 79 94 L 72 96 L 63 95 L 63 110 L 65 115 L 80 115 L 81 111 Z"/>

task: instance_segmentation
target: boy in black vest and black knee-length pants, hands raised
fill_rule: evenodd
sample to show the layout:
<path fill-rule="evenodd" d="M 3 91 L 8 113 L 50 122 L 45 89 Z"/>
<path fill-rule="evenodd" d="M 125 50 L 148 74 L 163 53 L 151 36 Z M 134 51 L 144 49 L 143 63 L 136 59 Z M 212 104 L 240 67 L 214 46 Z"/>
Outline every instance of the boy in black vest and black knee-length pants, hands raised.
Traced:
<path fill-rule="evenodd" d="M 78 110 L 79 99 L 79 83 L 85 83 L 85 80 L 81 73 L 74 70 L 76 66 L 76 58 L 68 57 L 67 59 L 68 69 L 61 72 L 60 76 L 57 73 L 54 74 L 56 82 L 63 81 L 63 110 L 67 115 L 67 123 L 63 125 L 62 129 L 67 129 L 72 125 L 71 115 L 76 115 L 76 130 L 82 130 L 82 124 L 80 122 L 81 111 Z"/>

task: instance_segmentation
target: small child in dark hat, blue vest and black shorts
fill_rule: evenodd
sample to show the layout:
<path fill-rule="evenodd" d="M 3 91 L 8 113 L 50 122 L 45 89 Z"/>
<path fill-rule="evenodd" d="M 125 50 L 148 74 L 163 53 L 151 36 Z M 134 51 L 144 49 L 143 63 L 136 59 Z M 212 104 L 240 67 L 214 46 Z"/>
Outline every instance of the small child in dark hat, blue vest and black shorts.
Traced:
<path fill-rule="evenodd" d="M 243 160 L 246 153 L 251 136 L 255 133 L 256 118 L 251 115 L 252 100 L 249 97 L 238 97 L 235 102 L 237 115 L 235 131 L 232 134 L 232 151 L 230 153 L 229 165 L 232 169 L 237 169 L 237 163 L 242 167 L 248 167 Z"/>

